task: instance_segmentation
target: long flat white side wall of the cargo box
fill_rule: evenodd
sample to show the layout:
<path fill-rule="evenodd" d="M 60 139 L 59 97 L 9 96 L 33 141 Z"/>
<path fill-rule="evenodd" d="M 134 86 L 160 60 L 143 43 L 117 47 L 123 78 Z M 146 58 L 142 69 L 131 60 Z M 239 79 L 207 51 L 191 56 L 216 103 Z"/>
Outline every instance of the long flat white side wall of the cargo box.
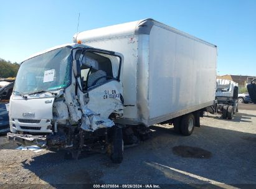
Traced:
<path fill-rule="evenodd" d="M 154 25 L 149 37 L 149 124 L 212 104 L 216 57 L 216 47 Z"/>

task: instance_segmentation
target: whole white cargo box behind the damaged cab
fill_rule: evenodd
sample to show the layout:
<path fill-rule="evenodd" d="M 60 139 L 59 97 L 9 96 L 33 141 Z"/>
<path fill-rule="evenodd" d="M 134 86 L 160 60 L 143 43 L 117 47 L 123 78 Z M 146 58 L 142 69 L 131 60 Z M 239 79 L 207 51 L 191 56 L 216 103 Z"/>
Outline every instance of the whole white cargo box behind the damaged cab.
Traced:
<path fill-rule="evenodd" d="M 80 32 L 74 42 L 124 56 L 123 119 L 153 124 L 211 106 L 217 47 L 152 19 Z"/>

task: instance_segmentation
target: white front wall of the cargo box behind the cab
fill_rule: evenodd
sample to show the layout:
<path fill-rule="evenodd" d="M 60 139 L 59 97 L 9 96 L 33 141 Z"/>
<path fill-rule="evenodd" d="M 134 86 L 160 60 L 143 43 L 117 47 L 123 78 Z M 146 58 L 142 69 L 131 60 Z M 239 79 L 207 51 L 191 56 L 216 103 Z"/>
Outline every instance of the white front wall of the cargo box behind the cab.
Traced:
<path fill-rule="evenodd" d="M 90 34 L 93 32 L 90 32 Z M 125 100 L 124 118 L 137 121 L 136 106 L 136 70 L 138 62 L 138 39 L 135 35 L 126 35 L 123 37 L 111 37 L 110 39 L 84 40 L 83 44 L 95 48 L 102 48 L 123 54 L 124 65 L 120 80 L 123 82 L 123 98 Z M 125 70 L 125 71 L 124 71 Z"/>

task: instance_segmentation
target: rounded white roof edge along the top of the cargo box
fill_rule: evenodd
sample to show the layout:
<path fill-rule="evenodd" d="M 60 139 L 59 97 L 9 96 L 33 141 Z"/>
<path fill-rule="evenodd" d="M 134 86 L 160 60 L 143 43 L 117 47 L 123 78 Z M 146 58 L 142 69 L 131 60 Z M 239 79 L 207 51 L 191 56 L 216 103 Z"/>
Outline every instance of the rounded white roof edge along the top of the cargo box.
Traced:
<path fill-rule="evenodd" d="M 73 35 L 73 42 L 81 40 L 83 43 L 85 43 L 88 41 L 91 42 L 95 40 L 112 39 L 115 37 L 126 37 L 128 35 L 135 34 L 150 34 L 150 30 L 153 25 L 166 30 L 171 30 L 172 32 L 183 35 L 184 37 L 188 37 L 189 39 L 196 40 L 197 42 L 201 42 L 212 47 L 217 47 L 216 45 L 187 34 L 186 32 L 182 32 L 181 30 L 175 29 L 174 27 L 170 27 L 166 24 L 155 21 L 154 19 L 142 19 L 140 21 L 126 22 L 124 24 L 110 25 L 98 29 L 78 32 L 77 34 Z"/>

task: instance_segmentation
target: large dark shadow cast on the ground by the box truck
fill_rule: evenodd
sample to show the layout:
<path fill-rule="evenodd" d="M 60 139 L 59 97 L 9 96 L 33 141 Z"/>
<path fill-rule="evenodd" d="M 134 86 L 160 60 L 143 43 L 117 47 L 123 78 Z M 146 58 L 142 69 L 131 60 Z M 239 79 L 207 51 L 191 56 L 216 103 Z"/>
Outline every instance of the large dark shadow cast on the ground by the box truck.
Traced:
<path fill-rule="evenodd" d="M 151 139 L 126 149 L 120 165 L 112 164 L 103 154 L 66 160 L 63 151 L 27 159 L 22 165 L 52 186 L 64 183 L 255 183 L 255 134 L 201 126 L 196 127 L 191 136 L 184 137 L 175 134 L 173 128 L 153 126 L 151 129 L 154 130 Z M 208 156 L 191 157 L 191 149 L 204 150 Z M 181 155 L 183 152 L 188 154 Z"/>

